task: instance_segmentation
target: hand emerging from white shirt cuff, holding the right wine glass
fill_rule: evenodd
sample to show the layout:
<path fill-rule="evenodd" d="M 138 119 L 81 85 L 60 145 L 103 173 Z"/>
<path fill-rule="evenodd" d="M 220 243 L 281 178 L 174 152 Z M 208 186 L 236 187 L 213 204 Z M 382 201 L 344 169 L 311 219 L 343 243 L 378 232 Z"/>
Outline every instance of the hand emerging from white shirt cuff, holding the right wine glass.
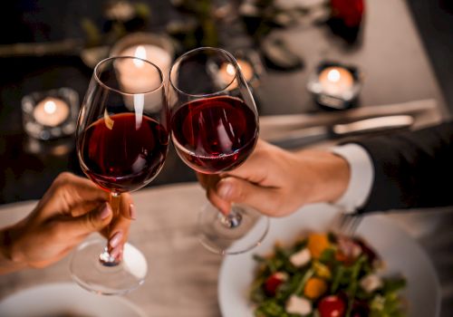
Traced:
<path fill-rule="evenodd" d="M 294 153 L 258 140 L 243 165 L 220 176 L 198 174 L 198 180 L 224 214 L 231 203 L 244 203 L 268 216 L 285 216 L 305 204 L 338 199 L 349 174 L 347 161 L 331 152 Z"/>

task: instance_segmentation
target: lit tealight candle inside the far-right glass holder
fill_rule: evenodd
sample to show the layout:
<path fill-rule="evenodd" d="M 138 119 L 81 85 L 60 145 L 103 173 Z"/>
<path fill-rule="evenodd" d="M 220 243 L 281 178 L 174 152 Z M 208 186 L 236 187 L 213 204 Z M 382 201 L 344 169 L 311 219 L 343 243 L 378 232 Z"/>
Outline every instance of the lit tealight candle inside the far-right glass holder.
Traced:
<path fill-rule="evenodd" d="M 340 96 L 350 91 L 354 84 L 352 73 L 343 67 L 327 67 L 319 74 L 319 82 L 323 92 L 332 96 Z"/>

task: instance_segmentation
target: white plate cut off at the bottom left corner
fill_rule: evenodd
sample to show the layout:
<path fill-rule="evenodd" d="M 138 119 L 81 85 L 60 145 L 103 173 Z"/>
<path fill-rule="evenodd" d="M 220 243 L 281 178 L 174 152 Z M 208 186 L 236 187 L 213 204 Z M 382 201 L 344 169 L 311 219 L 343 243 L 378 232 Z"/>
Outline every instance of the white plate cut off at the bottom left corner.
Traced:
<path fill-rule="evenodd" d="M 0 303 L 5 317 L 144 317 L 121 297 L 89 293 L 74 283 L 50 283 L 14 293 Z"/>

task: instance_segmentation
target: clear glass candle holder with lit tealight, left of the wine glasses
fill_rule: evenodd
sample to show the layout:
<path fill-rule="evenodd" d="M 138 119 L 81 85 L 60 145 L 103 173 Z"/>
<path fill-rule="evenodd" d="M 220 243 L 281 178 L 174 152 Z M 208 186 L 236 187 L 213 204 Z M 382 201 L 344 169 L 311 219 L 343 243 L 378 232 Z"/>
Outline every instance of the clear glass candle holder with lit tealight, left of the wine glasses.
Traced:
<path fill-rule="evenodd" d="M 42 140 L 72 135 L 79 107 L 79 95 L 71 88 L 32 92 L 22 99 L 24 130 Z"/>

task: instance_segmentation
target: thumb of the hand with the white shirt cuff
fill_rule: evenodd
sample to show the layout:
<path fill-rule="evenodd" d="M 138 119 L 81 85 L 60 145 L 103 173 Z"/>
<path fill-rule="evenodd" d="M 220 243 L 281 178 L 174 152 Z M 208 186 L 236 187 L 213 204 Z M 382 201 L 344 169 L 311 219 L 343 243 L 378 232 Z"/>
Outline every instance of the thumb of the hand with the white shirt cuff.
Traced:
<path fill-rule="evenodd" d="M 265 215 L 275 215 L 280 203 L 277 188 L 255 185 L 242 178 L 223 178 L 217 184 L 220 199 L 243 203 Z"/>

